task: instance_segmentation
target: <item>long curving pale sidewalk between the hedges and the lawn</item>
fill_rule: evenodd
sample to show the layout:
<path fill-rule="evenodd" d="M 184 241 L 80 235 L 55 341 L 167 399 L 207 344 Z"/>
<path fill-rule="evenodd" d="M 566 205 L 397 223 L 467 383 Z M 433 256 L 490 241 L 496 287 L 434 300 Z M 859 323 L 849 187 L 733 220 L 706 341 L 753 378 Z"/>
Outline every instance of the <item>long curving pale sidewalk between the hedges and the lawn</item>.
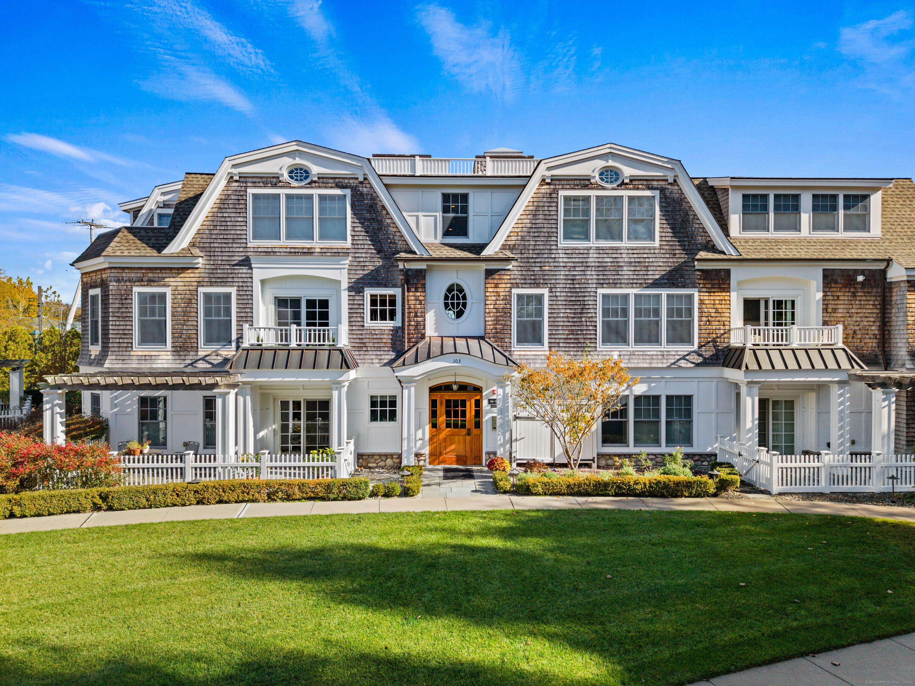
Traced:
<path fill-rule="evenodd" d="M 476 479 L 475 479 L 476 480 Z M 231 520 L 284 515 L 363 514 L 370 512 L 425 512 L 485 509 L 659 509 L 728 512 L 774 512 L 826 514 L 841 517 L 879 517 L 915 522 L 915 509 L 882 505 L 848 505 L 833 502 L 776 500 L 773 498 L 572 498 L 549 496 L 488 495 L 467 486 L 440 486 L 439 491 L 458 490 L 422 498 L 390 498 L 324 502 L 264 502 L 229 505 L 193 505 L 185 508 L 129 509 L 81 514 L 53 515 L 0 520 L 0 534 L 24 531 L 52 531 L 157 521 Z M 471 493 L 467 493 L 467 490 Z M 468 497 L 472 496 L 472 497 Z M 915 684 L 915 679 L 912 681 Z"/>

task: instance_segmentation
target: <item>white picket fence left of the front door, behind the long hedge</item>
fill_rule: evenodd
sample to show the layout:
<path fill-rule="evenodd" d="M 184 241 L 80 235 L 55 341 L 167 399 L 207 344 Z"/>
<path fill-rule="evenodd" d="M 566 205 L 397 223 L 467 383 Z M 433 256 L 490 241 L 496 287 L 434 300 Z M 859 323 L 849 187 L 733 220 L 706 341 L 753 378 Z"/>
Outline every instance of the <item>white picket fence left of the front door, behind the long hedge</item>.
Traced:
<path fill-rule="evenodd" d="M 336 455 L 273 455 L 263 451 L 253 456 L 124 455 L 121 467 L 124 484 L 149 486 L 181 481 L 216 481 L 231 478 L 346 478 L 356 468 L 356 437 L 350 438 Z"/>

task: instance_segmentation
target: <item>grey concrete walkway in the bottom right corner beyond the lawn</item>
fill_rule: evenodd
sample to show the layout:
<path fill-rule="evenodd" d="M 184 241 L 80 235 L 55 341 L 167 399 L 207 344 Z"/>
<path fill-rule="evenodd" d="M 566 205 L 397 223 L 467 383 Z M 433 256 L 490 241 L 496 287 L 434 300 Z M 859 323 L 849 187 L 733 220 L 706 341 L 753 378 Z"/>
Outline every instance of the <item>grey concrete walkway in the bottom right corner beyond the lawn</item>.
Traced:
<path fill-rule="evenodd" d="M 915 634 L 737 671 L 692 686 L 915 684 Z"/>

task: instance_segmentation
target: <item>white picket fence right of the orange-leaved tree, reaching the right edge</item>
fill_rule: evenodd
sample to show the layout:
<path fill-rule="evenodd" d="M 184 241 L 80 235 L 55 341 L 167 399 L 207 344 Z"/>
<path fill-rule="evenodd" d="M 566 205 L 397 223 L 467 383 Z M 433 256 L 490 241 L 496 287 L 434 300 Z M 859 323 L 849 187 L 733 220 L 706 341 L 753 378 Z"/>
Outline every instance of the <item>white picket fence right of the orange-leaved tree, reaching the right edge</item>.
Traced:
<path fill-rule="evenodd" d="M 731 463 L 744 481 L 773 494 L 915 488 L 915 455 L 780 455 L 718 436 L 718 461 Z"/>

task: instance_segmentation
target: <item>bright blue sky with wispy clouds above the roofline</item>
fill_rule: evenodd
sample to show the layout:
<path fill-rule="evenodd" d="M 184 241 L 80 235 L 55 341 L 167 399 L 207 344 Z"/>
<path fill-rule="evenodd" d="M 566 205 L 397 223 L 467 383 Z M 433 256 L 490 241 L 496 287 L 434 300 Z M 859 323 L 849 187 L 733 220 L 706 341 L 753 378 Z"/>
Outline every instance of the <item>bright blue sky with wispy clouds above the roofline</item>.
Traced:
<path fill-rule="evenodd" d="M 300 139 L 696 176 L 912 176 L 915 5 L 142 0 L 6 5 L 0 269 L 72 297 L 116 203 Z"/>

